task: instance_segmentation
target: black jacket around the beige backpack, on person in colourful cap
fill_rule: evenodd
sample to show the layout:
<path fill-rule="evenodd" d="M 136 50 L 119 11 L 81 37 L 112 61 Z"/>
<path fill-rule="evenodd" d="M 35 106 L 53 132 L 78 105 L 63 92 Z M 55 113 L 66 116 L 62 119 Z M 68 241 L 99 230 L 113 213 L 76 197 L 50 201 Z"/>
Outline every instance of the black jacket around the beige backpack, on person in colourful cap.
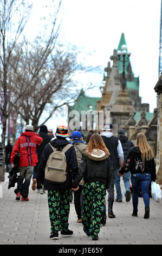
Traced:
<path fill-rule="evenodd" d="M 69 144 L 69 142 L 64 138 L 56 138 L 53 141 L 50 141 L 50 144 L 54 148 L 64 148 L 67 144 Z M 37 179 L 39 180 L 40 184 L 43 184 L 46 190 L 67 190 L 72 188 L 72 178 L 74 179 L 78 173 L 78 165 L 74 146 L 69 148 L 65 153 L 67 160 L 67 179 L 62 184 L 53 184 L 44 178 L 46 163 L 51 153 L 53 153 L 53 149 L 49 144 L 47 144 L 43 149 L 43 153 L 38 164 Z"/>

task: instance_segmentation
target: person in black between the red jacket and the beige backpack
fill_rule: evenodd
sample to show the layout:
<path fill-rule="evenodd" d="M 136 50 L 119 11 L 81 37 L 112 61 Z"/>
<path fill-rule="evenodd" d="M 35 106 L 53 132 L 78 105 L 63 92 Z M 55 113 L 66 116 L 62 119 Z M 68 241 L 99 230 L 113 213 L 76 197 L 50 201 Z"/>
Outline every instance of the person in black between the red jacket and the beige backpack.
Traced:
<path fill-rule="evenodd" d="M 37 188 L 37 192 L 40 194 L 44 194 L 45 191 L 43 190 L 41 184 L 38 183 L 36 179 L 36 173 L 37 173 L 37 168 L 38 164 L 40 161 L 41 154 L 43 152 L 44 147 L 46 146 L 47 143 L 51 141 L 51 137 L 48 135 L 48 129 L 46 125 L 42 125 L 40 127 L 40 132 L 39 136 L 43 139 L 42 143 L 37 146 L 37 156 L 38 156 L 38 162 L 36 163 L 36 166 L 34 167 L 34 172 L 33 172 L 33 184 L 31 186 L 32 190 L 35 190 Z"/>

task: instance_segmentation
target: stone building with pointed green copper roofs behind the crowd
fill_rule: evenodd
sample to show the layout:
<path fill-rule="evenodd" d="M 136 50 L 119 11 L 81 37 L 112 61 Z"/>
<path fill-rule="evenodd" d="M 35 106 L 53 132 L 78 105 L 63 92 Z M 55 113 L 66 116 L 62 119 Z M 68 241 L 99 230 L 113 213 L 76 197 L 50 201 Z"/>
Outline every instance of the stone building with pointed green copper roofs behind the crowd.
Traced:
<path fill-rule="evenodd" d="M 126 45 L 126 40 L 122 33 L 117 50 L 121 50 L 123 44 Z M 141 103 L 139 77 L 134 76 L 130 61 L 125 64 L 126 88 L 125 92 L 122 92 L 123 65 L 119 61 L 117 50 L 114 49 L 113 55 L 110 57 L 113 65 L 111 66 L 111 62 L 108 62 L 105 68 L 106 75 L 103 78 L 105 86 L 102 88 L 101 97 L 88 97 L 81 90 L 76 103 L 69 106 L 69 112 L 84 110 L 89 111 L 90 114 L 92 110 L 97 112 L 109 110 L 115 135 L 117 135 L 119 128 L 124 128 L 128 138 L 135 142 L 137 133 L 144 132 L 154 154 L 156 154 L 157 109 L 154 109 L 154 113 L 150 113 L 149 104 Z M 79 119 L 78 124 L 81 124 L 81 118 L 78 117 L 77 119 Z M 92 126 L 94 124 L 95 120 L 93 119 Z M 81 130 L 81 127 L 79 129 Z M 87 135 L 87 130 L 82 130 L 84 136 Z M 72 133 L 72 131 L 69 132 Z"/>

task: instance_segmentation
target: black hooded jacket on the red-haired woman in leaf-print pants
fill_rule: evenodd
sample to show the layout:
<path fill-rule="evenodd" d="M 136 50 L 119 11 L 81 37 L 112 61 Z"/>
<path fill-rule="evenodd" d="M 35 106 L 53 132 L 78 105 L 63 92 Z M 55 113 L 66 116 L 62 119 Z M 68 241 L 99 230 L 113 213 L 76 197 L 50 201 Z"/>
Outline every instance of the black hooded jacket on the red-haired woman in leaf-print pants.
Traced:
<path fill-rule="evenodd" d="M 79 185 L 82 178 L 85 183 L 101 181 L 105 183 L 106 188 L 108 188 L 111 178 L 110 157 L 106 155 L 101 159 L 97 159 L 85 152 L 80 162 L 79 173 L 73 181 L 74 188 Z"/>

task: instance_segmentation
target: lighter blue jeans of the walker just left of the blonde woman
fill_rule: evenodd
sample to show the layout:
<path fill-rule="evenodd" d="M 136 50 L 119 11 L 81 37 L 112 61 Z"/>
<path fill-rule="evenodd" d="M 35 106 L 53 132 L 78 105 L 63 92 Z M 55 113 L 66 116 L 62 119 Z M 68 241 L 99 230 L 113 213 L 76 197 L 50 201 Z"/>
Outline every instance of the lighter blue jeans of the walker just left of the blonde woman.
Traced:
<path fill-rule="evenodd" d="M 125 185 L 125 190 L 130 191 L 130 172 L 125 173 L 124 176 L 122 176 L 122 179 L 124 181 Z M 115 178 L 115 186 L 116 186 L 116 198 L 118 200 L 122 200 L 122 193 L 121 193 L 121 187 L 120 187 L 120 176 L 118 175 L 118 170 L 116 173 L 116 178 Z"/>

